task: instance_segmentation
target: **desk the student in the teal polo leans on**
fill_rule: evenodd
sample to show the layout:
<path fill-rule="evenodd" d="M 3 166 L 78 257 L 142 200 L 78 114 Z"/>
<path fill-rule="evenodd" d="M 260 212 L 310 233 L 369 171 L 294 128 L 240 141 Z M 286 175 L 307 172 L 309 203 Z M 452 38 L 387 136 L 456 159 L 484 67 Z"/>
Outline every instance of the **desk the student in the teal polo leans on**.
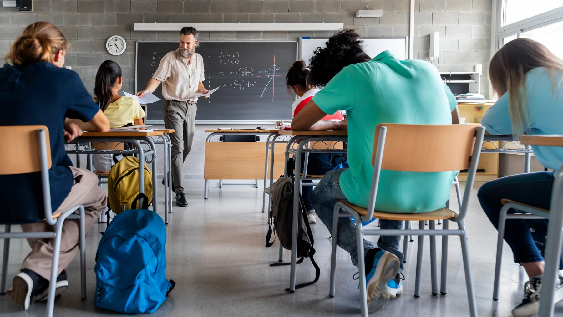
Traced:
<path fill-rule="evenodd" d="M 294 197 L 293 197 L 293 210 L 299 210 L 299 193 L 301 191 L 301 180 L 302 179 L 310 179 L 307 177 L 306 166 L 301 169 L 301 154 L 305 153 L 308 155 L 309 153 L 342 153 L 345 152 L 346 149 L 335 149 L 334 147 L 338 142 L 346 142 L 348 140 L 348 131 L 347 130 L 338 130 L 338 131 L 279 131 L 279 135 L 283 136 L 292 136 L 291 140 L 287 143 L 285 147 L 285 155 L 289 158 L 289 154 L 293 154 L 295 158 L 295 175 L 296 181 L 294 182 Z M 299 141 L 298 141 L 299 140 Z M 333 148 L 319 148 L 315 146 L 314 142 L 326 142 L 326 141 L 335 141 L 332 145 Z M 311 148 L 304 148 L 306 144 L 312 142 Z M 296 148 L 292 148 L 292 145 L 296 144 Z M 285 176 L 287 176 L 287 159 L 285 160 L 286 168 Z M 272 168 L 272 167 L 271 167 Z M 303 177 L 299 177 L 300 173 L 303 172 Z M 271 187 L 270 187 L 271 188 Z M 295 285 L 296 285 L 296 266 L 297 266 L 297 221 L 298 221 L 298 212 L 293 213 L 293 222 L 292 222 L 292 240 L 291 240 L 291 276 L 289 279 L 289 292 L 295 292 Z M 280 244 L 279 250 L 279 258 L 280 262 L 283 261 L 283 247 Z"/>

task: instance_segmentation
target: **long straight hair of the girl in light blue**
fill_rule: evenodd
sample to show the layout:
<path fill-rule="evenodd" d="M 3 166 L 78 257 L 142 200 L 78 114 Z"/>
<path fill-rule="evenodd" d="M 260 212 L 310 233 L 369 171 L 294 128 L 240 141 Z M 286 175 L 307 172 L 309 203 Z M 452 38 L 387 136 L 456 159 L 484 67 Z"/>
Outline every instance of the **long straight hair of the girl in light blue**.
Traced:
<path fill-rule="evenodd" d="M 512 134 L 522 135 L 529 123 L 526 99 L 526 74 L 538 67 L 547 68 L 551 76 L 553 97 L 556 86 L 553 71 L 563 75 L 563 60 L 555 56 L 542 43 L 528 38 L 510 41 L 498 50 L 489 65 L 489 78 L 493 90 L 501 97 L 508 92 L 508 111 L 512 123 Z M 563 79 L 562 79 L 563 80 Z"/>

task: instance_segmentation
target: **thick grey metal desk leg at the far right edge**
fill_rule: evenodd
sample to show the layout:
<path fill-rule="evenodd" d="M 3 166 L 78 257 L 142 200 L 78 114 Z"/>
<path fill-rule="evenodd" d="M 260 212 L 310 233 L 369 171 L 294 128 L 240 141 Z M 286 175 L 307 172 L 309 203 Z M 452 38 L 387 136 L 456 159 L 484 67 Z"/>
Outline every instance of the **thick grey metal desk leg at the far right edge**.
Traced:
<path fill-rule="evenodd" d="M 561 253 L 561 226 L 563 224 L 563 166 L 557 171 L 553 182 L 551 195 L 551 208 L 549 212 L 549 225 L 547 228 L 546 251 L 544 252 L 546 266 L 543 271 L 542 300 L 539 301 L 539 314 L 542 317 L 553 317 L 555 306 L 555 279 L 559 270 Z"/>

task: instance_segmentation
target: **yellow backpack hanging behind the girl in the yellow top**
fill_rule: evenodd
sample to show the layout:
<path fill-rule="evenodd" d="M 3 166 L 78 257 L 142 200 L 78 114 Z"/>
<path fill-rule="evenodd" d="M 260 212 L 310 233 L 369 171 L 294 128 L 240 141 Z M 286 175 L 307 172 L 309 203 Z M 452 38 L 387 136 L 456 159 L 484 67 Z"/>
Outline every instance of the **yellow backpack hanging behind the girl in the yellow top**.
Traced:
<path fill-rule="evenodd" d="M 124 157 L 111 167 L 108 175 L 109 207 L 118 214 L 127 209 L 146 209 L 153 200 L 153 174 L 145 169 L 144 206 L 139 206 L 139 161 L 136 157 Z M 142 195 L 140 197 L 143 197 Z"/>

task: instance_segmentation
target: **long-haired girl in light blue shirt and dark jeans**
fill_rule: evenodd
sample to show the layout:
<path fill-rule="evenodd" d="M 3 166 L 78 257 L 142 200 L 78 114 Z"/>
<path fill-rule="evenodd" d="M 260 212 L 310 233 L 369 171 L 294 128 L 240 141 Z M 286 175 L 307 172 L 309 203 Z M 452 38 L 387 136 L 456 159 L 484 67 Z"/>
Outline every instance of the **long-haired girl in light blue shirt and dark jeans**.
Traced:
<path fill-rule="evenodd" d="M 547 47 L 526 38 L 508 42 L 493 56 L 489 76 L 501 99 L 481 120 L 487 132 L 515 136 L 563 134 L 563 60 Z M 561 167 L 563 149 L 546 146 L 532 146 L 532 149 L 544 167 Z M 553 172 L 525 173 L 487 182 L 481 186 L 477 197 L 498 229 L 501 199 L 549 209 L 552 186 Z M 524 267 L 530 278 L 524 288 L 524 300 L 512 314 L 529 316 L 539 309 L 547 220 L 508 220 L 504 232 L 514 261 Z M 556 302 L 563 300 L 561 277 L 557 279 L 555 296 Z"/>

